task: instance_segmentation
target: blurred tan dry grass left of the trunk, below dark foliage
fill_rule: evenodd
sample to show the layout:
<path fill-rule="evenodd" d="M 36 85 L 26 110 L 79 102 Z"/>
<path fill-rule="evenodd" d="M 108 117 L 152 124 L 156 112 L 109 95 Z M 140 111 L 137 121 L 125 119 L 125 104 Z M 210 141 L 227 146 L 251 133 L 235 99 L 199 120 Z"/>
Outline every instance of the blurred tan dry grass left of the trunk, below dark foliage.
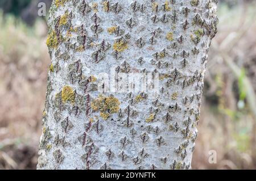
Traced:
<path fill-rule="evenodd" d="M 2 14 L 0 24 L 0 169 L 32 169 L 50 62 L 47 28 L 44 22 L 28 28 Z"/>

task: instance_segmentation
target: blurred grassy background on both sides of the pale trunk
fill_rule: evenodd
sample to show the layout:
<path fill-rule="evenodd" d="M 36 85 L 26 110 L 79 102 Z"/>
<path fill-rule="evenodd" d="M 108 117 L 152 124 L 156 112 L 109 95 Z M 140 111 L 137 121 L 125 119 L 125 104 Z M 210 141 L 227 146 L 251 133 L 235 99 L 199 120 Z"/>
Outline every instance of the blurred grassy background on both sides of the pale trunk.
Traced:
<path fill-rule="evenodd" d="M 51 61 L 39 2 L 52 0 L 0 0 L 0 169 L 36 168 Z M 218 6 L 192 168 L 256 169 L 256 1 Z"/>

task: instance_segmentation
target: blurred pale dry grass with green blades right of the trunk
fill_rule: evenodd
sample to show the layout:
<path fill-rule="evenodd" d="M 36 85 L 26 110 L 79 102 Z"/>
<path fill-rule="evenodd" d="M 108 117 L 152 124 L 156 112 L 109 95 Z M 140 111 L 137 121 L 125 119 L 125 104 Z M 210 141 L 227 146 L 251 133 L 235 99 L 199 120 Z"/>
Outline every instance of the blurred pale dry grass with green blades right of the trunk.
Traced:
<path fill-rule="evenodd" d="M 193 169 L 255 169 L 255 117 L 248 107 L 238 107 L 242 102 L 242 89 L 239 80 L 226 66 L 220 51 L 228 53 L 232 61 L 250 79 L 256 90 L 256 22 L 255 5 L 239 6 L 230 10 L 226 6 L 219 9 L 220 23 L 218 34 L 213 40 L 209 53 L 208 70 L 205 76 L 205 89 L 199 137 L 193 157 Z M 241 39 L 228 51 L 236 35 L 245 32 Z M 227 38 L 228 37 L 228 38 Z M 229 41 L 230 42 L 230 41 Z M 221 46 L 222 44 L 222 46 Z M 243 77 L 241 76 L 241 81 Z M 217 163 L 208 162 L 209 150 L 216 150 Z"/>

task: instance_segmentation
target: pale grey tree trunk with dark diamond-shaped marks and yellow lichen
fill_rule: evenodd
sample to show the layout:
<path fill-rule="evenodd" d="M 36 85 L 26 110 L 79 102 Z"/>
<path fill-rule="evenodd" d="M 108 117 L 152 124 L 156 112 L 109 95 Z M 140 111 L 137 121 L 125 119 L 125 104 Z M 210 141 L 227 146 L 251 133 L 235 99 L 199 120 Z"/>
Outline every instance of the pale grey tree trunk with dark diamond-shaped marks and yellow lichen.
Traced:
<path fill-rule="evenodd" d="M 216 3 L 55 0 L 38 169 L 191 169 Z"/>

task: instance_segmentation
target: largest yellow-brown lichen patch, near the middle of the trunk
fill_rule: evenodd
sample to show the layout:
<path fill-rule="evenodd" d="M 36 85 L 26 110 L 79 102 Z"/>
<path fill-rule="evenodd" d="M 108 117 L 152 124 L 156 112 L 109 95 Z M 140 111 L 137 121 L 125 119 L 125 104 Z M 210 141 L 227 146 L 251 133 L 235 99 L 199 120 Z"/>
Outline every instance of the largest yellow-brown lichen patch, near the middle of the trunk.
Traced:
<path fill-rule="evenodd" d="M 105 97 L 98 96 L 97 99 L 93 100 L 91 105 L 93 111 L 100 111 L 100 116 L 102 118 L 108 119 L 110 113 L 117 113 L 119 110 L 120 102 L 117 98 L 113 96 Z"/>

